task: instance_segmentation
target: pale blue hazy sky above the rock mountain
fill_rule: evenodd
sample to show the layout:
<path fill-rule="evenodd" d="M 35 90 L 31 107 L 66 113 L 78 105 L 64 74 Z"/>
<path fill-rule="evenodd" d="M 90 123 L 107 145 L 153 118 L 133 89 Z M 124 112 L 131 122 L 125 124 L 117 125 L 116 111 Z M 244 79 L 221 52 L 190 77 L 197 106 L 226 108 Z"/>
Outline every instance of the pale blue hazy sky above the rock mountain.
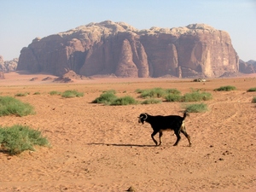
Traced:
<path fill-rule="evenodd" d="M 139 30 L 205 23 L 230 33 L 241 60 L 256 61 L 256 0 L 0 0 L 0 55 L 12 60 L 36 37 L 103 20 Z"/>

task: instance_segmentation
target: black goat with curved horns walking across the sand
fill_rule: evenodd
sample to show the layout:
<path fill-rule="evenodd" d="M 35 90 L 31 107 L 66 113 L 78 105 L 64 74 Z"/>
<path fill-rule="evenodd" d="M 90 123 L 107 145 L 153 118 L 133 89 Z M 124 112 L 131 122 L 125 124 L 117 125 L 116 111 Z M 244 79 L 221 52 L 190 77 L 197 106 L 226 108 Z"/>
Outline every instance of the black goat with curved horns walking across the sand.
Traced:
<path fill-rule="evenodd" d="M 178 115 L 152 116 L 152 115 L 149 115 L 148 113 L 141 113 L 140 116 L 138 117 L 138 122 L 142 124 L 144 124 L 144 122 L 147 122 L 148 124 L 151 125 L 151 127 L 154 130 L 153 133 L 151 134 L 151 137 L 155 145 L 157 145 L 157 141 L 154 139 L 154 135 L 156 133 L 159 132 L 159 140 L 160 140 L 159 145 L 160 145 L 162 143 L 161 137 L 163 135 L 163 131 L 173 130 L 177 137 L 177 141 L 176 143 L 174 143 L 174 146 L 177 145 L 177 143 L 181 138 L 179 135 L 180 132 L 182 132 L 184 136 L 187 137 L 187 139 L 189 140 L 189 146 L 191 146 L 192 143 L 190 142 L 190 137 L 186 131 L 185 123 L 184 123 L 184 119 L 186 119 L 186 116 L 187 116 L 186 112 L 183 113 L 183 117 Z"/>

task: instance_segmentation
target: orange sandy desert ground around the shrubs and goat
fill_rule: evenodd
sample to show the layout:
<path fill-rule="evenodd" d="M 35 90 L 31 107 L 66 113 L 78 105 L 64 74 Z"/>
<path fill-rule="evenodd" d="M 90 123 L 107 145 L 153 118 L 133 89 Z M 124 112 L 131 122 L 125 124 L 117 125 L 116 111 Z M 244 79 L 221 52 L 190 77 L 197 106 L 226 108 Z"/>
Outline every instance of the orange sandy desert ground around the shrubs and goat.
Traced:
<path fill-rule="evenodd" d="M 30 81 L 33 77 L 38 79 Z M 36 110 L 25 117 L 0 117 L 0 125 L 39 129 L 52 146 L 16 156 L 0 153 L 0 191 L 256 191 L 256 104 L 251 102 L 256 93 L 247 92 L 256 87 L 255 75 L 206 83 L 86 79 L 58 84 L 42 81 L 46 77 L 6 73 L 0 80 L 1 96 L 29 92 L 17 98 Z M 223 85 L 237 90 L 213 91 Z M 137 122 L 144 112 L 182 115 L 180 102 L 116 107 L 91 103 L 103 90 L 137 97 L 135 90 L 154 87 L 212 93 L 206 102 L 209 111 L 190 113 L 186 119 L 192 147 L 183 136 L 173 147 L 172 132 L 164 132 L 162 146 L 154 147 L 150 125 Z M 79 90 L 84 96 L 49 96 L 51 90 Z"/>

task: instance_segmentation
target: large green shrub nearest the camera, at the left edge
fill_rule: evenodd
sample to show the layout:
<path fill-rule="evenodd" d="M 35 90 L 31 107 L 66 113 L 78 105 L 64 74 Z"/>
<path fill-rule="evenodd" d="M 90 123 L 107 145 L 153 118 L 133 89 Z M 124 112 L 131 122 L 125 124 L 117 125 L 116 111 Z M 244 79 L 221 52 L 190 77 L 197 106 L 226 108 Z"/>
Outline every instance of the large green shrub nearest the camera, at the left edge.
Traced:
<path fill-rule="evenodd" d="M 9 154 L 20 154 L 25 150 L 34 150 L 33 146 L 49 146 L 49 141 L 41 131 L 32 130 L 28 126 L 0 126 L 0 146 L 2 151 Z"/>

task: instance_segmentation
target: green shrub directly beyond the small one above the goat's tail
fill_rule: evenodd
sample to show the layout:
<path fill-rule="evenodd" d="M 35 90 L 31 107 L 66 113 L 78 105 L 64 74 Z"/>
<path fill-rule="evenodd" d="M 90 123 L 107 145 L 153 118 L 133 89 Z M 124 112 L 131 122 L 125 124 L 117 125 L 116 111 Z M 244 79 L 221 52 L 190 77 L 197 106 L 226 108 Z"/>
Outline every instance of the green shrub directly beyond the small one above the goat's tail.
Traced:
<path fill-rule="evenodd" d="M 191 93 L 186 93 L 181 98 L 182 102 L 200 102 L 212 99 L 212 94 L 201 92 L 200 90 L 192 90 Z"/>

